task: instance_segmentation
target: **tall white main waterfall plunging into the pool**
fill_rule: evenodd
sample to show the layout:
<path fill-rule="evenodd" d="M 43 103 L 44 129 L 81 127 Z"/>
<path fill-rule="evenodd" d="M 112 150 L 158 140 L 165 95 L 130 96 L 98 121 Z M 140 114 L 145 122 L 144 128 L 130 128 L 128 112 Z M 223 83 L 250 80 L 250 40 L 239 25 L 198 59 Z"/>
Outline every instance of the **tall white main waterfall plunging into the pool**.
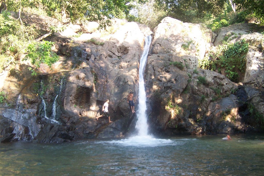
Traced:
<path fill-rule="evenodd" d="M 147 64 L 149 46 L 151 43 L 151 36 L 147 36 L 145 38 L 144 50 L 143 54 L 140 58 L 139 63 L 139 109 L 137 111 L 138 121 L 136 122 L 136 129 L 138 130 L 139 136 L 147 136 L 148 135 L 148 124 L 147 124 L 147 104 L 146 104 L 146 92 L 144 86 L 144 71 L 145 66 Z"/>

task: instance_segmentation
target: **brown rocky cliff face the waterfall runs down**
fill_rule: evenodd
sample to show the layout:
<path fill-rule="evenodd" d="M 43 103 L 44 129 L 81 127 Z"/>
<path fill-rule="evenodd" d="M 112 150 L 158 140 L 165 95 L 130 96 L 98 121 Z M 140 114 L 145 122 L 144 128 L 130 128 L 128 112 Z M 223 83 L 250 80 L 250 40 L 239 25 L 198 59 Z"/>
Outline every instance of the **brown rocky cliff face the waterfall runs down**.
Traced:
<path fill-rule="evenodd" d="M 45 22 L 37 15 L 34 19 L 27 15 L 23 18 L 30 19 L 26 24 Z M 239 26 L 243 32 L 234 30 Z M 98 31 L 97 27 L 96 22 L 69 24 L 47 38 L 55 42 L 53 50 L 60 56 L 52 70 L 43 65 L 40 74 L 32 77 L 27 69 L 32 65 L 22 61 L 22 56 L 15 71 L 6 68 L 1 73 L 0 90 L 8 100 L 0 106 L 0 142 L 65 142 L 132 135 L 136 115 L 130 113 L 126 97 L 130 91 L 138 97 L 139 60 L 144 38 L 152 34 L 145 71 L 151 133 L 261 131 L 261 124 L 256 122 L 263 121 L 252 115 L 257 112 L 263 118 L 264 114 L 264 40 L 254 31 L 256 26 L 230 26 L 213 34 L 203 25 L 166 17 L 153 33 L 145 25 L 120 19 L 105 30 Z M 251 46 L 242 83 L 198 68 L 199 60 L 227 35 L 230 42 L 246 39 Z M 106 99 L 110 100 L 113 123 L 104 117 L 95 118 Z M 137 108 L 137 100 L 135 104 Z"/>

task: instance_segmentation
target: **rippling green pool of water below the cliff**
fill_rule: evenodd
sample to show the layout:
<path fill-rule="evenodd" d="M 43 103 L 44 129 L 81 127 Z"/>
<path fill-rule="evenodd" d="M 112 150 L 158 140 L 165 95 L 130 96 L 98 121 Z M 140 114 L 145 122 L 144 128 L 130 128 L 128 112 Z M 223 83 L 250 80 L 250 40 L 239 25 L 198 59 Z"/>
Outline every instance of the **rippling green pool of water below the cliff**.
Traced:
<path fill-rule="evenodd" d="M 0 175 L 264 174 L 264 135 L 222 137 L 178 136 L 159 145 L 117 139 L 0 143 Z"/>

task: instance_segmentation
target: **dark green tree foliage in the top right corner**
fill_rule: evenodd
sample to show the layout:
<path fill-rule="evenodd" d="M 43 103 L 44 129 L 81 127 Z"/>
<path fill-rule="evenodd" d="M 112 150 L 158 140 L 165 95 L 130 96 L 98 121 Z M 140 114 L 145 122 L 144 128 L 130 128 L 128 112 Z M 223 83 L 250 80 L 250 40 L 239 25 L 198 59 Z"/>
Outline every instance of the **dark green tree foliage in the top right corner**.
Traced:
<path fill-rule="evenodd" d="M 233 0 L 238 9 L 244 9 L 255 13 L 258 20 L 264 20 L 264 1 L 263 0 Z"/>

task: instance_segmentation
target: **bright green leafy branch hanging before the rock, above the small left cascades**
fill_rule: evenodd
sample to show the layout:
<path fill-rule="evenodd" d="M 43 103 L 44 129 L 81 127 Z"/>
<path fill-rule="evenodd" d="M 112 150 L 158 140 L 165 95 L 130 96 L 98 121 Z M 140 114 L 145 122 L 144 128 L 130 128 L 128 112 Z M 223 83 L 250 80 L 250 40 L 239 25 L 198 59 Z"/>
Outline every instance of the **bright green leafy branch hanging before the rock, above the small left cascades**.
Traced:
<path fill-rule="evenodd" d="M 41 63 L 48 65 L 50 68 L 53 63 L 59 60 L 59 56 L 51 51 L 51 47 L 54 45 L 54 42 L 51 41 L 41 41 L 41 42 L 32 42 L 27 47 L 27 55 L 23 60 L 30 59 L 31 63 L 37 68 L 40 67 Z M 29 68 L 32 71 L 32 75 L 36 75 L 34 69 Z"/>

